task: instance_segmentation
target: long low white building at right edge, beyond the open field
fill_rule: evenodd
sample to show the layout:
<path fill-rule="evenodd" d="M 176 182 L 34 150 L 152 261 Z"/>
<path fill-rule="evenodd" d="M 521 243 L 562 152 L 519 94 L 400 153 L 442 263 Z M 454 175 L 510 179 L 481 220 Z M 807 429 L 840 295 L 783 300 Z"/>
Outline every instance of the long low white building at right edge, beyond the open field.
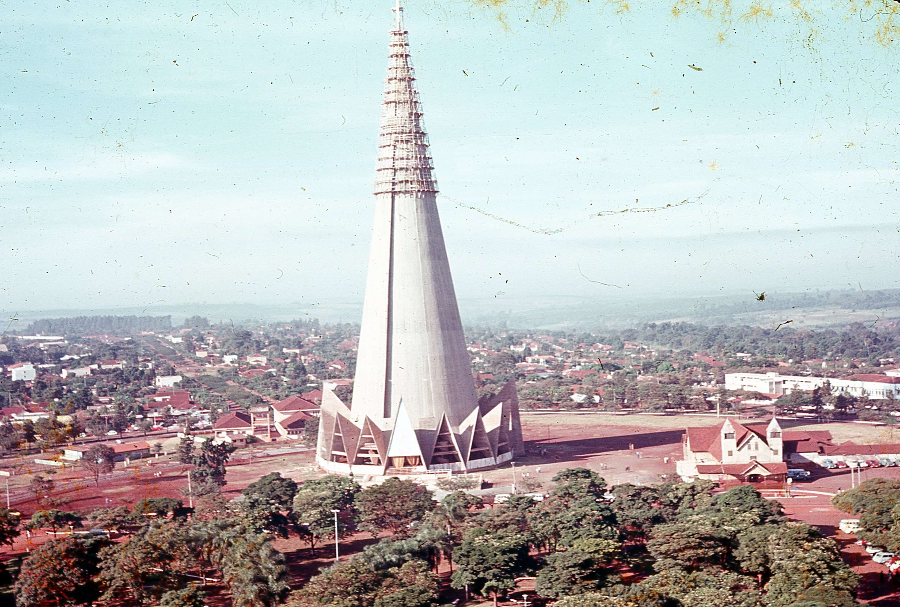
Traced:
<path fill-rule="evenodd" d="M 804 375 L 768 373 L 725 373 L 725 389 L 747 390 L 763 394 L 790 394 L 795 390 L 811 391 L 822 388 L 825 382 L 832 387 L 832 394 L 849 394 L 869 398 L 887 398 L 889 394 L 900 397 L 900 377 L 879 373 L 857 373 L 846 378 L 817 378 Z"/>

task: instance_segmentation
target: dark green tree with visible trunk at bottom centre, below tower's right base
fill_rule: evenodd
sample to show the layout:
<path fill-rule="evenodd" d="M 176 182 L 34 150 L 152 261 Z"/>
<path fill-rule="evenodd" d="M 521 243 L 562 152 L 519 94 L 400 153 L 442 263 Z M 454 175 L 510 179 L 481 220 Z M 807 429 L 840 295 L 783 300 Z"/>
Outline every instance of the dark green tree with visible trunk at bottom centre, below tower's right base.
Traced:
<path fill-rule="evenodd" d="M 516 530 L 475 527 L 453 551 L 456 570 L 450 585 L 482 596 L 491 594 L 496 606 L 498 595 L 515 588 L 516 578 L 531 571 L 530 548 L 527 536 Z"/>

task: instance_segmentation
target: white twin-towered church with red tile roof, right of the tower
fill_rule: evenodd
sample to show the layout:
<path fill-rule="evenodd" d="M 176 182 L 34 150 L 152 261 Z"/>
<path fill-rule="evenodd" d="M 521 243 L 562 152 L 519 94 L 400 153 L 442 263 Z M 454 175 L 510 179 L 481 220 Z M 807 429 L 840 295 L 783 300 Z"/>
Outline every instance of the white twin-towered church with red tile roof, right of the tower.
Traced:
<path fill-rule="evenodd" d="M 769 424 L 743 425 L 726 419 L 721 425 L 688 428 L 681 439 L 680 477 L 719 482 L 784 480 L 784 438 L 774 417 Z"/>

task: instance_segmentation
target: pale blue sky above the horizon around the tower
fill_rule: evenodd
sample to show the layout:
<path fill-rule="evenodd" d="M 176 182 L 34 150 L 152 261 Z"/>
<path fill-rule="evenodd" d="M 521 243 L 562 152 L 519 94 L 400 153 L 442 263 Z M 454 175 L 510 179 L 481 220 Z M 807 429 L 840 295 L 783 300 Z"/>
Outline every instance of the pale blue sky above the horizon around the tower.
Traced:
<path fill-rule="evenodd" d="M 0 308 L 361 300 L 391 4 L 4 3 Z M 461 298 L 897 286 L 878 18 L 571 4 L 408 3 Z"/>

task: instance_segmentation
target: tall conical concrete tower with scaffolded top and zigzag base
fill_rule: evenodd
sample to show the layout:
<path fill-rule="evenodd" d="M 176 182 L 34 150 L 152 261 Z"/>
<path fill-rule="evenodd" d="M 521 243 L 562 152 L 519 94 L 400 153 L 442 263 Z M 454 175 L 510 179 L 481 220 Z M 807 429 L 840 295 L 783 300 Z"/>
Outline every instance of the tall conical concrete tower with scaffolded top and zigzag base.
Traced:
<path fill-rule="evenodd" d="M 323 424 L 320 464 L 359 474 L 485 468 L 524 451 L 516 390 L 481 405 L 475 394 L 399 2 L 393 11 L 353 402 L 322 402 L 323 420 L 344 417 L 364 432 L 351 448 Z"/>

